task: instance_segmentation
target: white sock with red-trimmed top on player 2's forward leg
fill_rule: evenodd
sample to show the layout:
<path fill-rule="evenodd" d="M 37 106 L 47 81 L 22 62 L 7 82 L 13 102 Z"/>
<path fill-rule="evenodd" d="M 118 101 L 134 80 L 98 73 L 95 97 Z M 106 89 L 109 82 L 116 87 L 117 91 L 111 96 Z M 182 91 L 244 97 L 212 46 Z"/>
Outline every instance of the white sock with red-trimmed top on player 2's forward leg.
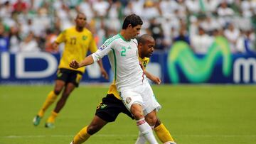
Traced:
<path fill-rule="evenodd" d="M 145 118 L 139 119 L 136 121 L 137 126 L 139 128 L 140 133 L 144 136 L 144 138 L 150 143 L 150 144 L 158 144 L 156 141 L 156 138 L 154 137 L 153 131 L 151 127 L 149 126 L 149 123 L 146 123 Z"/>

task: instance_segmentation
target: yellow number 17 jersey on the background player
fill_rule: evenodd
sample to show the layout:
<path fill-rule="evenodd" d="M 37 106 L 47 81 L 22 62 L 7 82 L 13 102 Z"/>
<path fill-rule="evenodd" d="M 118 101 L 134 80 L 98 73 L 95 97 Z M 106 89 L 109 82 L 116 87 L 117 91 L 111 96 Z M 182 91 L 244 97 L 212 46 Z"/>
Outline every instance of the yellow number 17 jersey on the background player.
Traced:
<path fill-rule="evenodd" d="M 97 51 L 97 45 L 93 35 L 87 28 L 84 28 L 82 32 L 76 31 L 75 26 L 68 28 L 58 35 L 55 42 L 65 43 L 65 48 L 58 68 L 77 70 L 84 73 L 85 67 L 73 69 L 69 67 L 69 63 L 72 60 L 77 60 L 78 62 L 84 60 L 88 50 L 92 53 Z"/>

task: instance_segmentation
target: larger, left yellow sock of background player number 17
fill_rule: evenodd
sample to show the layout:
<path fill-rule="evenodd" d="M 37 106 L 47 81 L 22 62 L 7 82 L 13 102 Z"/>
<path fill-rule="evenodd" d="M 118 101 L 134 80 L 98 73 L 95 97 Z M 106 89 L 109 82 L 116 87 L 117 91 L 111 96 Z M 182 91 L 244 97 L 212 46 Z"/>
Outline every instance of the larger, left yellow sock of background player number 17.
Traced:
<path fill-rule="evenodd" d="M 40 111 L 38 112 L 38 116 L 43 117 L 44 113 L 46 112 L 46 109 L 48 109 L 48 107 L 53 104 L 53 102 L 57 99 L 57 95 L 51 91 L 47 98 L 46 101 L 43 103 L 42 108 L 40 109 Z"/>

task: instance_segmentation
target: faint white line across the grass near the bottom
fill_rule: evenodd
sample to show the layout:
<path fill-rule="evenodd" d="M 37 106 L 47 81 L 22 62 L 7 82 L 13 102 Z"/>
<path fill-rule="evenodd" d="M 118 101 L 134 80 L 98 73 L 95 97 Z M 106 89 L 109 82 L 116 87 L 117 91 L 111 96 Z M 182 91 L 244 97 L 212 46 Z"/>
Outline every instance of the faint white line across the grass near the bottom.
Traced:
<path fill-rule="evenodd" d="M 71 137 L 74 135 L 8 135 L 1 136 L 0 138 L 64 138 Z M 116 134 L 99 134 L 93 135 L 93 137 L 137 137 L 137 135 L 116 135 Z M 211 137 L 219 137 L 219 138 L 255 138 L 256 135 L 175 135 L 176 137 L 201 137 L 201 138 L 211 138 Z"/>

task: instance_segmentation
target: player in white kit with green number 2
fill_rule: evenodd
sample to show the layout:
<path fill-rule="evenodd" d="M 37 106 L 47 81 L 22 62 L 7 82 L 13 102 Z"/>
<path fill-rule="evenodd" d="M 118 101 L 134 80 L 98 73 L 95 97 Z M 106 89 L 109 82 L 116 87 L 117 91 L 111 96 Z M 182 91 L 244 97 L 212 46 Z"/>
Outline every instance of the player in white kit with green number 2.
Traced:
<path fill-rule="evenodd" d="M 85 57 L 82 62 L 70 62 L 70 67 L 91 65 L 108 55 L 114 72 L 114 81 L 124 105 L 134 116 L 144 138 L 149 143 L 156 144 L 151 126 L 146 123 L 144 116 L 151 116 L 156 121 L 156 111 L 161 109 L 161 106 L 154 98 L 149 82 L 139 65 L 138 44 L 134 39 L 139 35 L 142 24 L 142 19 L 136 14 L 127 16 L 119 34 L 106 40 L 97 52 Z"/>

